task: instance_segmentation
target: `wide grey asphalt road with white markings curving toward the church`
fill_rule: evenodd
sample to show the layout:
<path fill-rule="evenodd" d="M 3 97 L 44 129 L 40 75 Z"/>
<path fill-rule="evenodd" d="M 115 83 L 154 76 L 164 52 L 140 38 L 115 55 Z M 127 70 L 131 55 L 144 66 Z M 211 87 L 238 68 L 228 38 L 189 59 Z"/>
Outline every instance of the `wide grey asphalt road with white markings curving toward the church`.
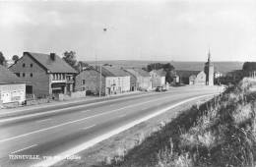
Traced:
<path fill-rule="evenodd" d="M 19 111 L 16 116 L 0 120 L 0 165 L 33 166 L 46 159 L 57 162 L 64 153 L 77 153 L 99 138 L 108 138 L 108 132 L 122 131 L 120 127 L 132 126 L 136 120 L 170 105 L 220 91 L 220 87 L 182 87 L 101 101 L 40 106 L 25 114 Z M 30 159 L 27 155 L 31 155 Z"/>

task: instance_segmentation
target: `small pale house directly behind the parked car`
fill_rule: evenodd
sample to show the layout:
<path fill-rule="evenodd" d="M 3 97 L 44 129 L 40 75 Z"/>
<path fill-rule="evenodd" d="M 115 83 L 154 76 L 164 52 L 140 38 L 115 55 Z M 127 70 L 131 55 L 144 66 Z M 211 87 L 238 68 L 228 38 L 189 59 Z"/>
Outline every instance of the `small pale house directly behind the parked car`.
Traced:
<path fill-rule="evenodd" d="M 153 87 L 165 85 L 166 72 L 163 69 L 151 71 L 150 76 Z"/>

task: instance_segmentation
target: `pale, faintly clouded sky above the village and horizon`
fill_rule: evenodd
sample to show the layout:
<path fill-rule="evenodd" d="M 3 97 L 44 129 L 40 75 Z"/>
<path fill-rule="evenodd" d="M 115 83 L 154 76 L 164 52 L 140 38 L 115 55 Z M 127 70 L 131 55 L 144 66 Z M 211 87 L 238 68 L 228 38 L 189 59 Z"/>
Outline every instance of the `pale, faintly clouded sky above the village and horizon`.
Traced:
<path fill-rule="evenodd" d="M 0 1 L 0 51 L 77 59 L 256 61 L 255 0 Z"/>

